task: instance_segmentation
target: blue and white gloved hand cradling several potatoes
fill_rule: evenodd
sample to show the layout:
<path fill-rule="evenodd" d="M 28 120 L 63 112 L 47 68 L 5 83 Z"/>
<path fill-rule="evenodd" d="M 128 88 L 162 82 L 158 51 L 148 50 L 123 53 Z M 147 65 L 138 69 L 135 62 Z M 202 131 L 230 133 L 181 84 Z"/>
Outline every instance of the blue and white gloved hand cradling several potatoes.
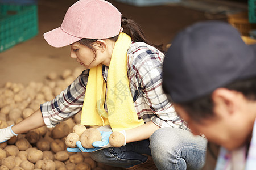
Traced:
<path fill-rule="evenodd" d="M 84 148 L 82 147 L 81 145 L 81 142 L 80 141 L 77 141 L 76 142 L 76 148 L 67 148 L 67 151 L 68 152 L 95 152 L 97 150 L 102 150 L 104 148 L 109 148 L 109 147 L 112 147 L 110 144 L 109 144 L 109 136 L 110 134 L 112 134 L 112 131 L 100 131 L 101 133 L 101 141 L 96 141 L 96 142 L 93 142 L 93 146 L 94 148 Z M 126 144 L 126 134 L 125 134 L 125 131 L 121 131 L 121 133 L 125 136 L 125 143 L 123 145 Z"/>

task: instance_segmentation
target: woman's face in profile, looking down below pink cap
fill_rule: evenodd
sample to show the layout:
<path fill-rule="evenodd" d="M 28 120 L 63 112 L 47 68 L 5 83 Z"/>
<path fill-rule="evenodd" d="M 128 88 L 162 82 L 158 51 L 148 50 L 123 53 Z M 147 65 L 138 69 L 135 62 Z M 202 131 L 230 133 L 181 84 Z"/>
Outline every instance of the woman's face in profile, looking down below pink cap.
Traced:
<path fill-rule="evenodd" d="M 79 42 L 75 42 L 70 46 L 71 58 L 76 58 L 76 61 L 79 62 L 80 65 L 84 66 L 86 69 L 95 67 L 100 63 L 105 64 L 105 60 L 108 58 L 106 57 L 106 53 L 103 53 L 101 46 L 97 42 L 93 43 L 96 54 L 93 52 L 92 49 L 80 44 Z"/>

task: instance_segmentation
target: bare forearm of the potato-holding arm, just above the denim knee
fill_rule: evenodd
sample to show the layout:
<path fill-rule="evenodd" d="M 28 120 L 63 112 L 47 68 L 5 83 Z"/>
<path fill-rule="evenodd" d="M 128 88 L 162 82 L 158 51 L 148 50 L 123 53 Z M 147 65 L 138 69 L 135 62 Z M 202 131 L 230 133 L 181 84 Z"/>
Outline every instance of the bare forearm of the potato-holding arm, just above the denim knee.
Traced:
<path fill-rule="evenodd" d="M 148 139 L 158 129 L 159 126 L 150 121 L 137 128 L 126 130 L 126 143 Z"/>

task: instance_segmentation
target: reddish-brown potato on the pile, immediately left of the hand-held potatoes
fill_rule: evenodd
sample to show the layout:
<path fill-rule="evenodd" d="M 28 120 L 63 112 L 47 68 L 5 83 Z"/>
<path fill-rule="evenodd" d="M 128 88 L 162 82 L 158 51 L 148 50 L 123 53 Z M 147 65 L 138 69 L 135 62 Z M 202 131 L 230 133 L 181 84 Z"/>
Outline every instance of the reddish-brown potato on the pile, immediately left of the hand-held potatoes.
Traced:
<path fill-rule="evenodd" d="M 65 122 L 61 122 L 60 124 L 57 124 L 52 129 L 52 138 L 53 139 L 60 139 L 69 134 L 69 127 Z"/>

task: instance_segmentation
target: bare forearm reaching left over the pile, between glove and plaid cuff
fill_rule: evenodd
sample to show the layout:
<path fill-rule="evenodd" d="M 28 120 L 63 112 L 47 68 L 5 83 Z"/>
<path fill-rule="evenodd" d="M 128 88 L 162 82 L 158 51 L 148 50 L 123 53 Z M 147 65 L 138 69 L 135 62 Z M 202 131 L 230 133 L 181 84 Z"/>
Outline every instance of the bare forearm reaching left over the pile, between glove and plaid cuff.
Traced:
<path fill-rule="evenodd" d="M 45 124 L 43 121 L 42 113 L 40 109 L 38 109 L 33 114 L 31 114 L 31 116 L 25 118 L 23 121 L 14 125 L 12 129 L 14 133 L 20 134 L 20 133 L 26 133 L 27 131 L 30 131 L 35 128 L 39 128 L 44 125 Z"/>

